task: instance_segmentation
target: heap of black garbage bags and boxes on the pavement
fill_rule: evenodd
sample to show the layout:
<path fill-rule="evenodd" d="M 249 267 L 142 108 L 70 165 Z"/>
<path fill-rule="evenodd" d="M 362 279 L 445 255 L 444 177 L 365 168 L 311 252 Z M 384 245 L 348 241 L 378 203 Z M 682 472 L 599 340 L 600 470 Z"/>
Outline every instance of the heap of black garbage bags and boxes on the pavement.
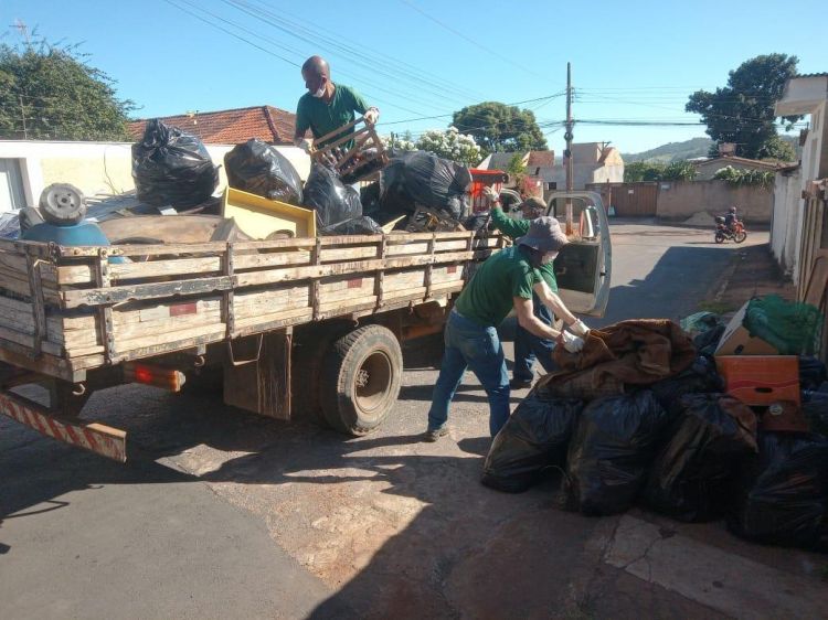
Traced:
<path fill-rule="evenodd" d="M 559 503 L 585 515 L 637 503 L 828 550 L 828 374 L 809 356 L 820 325 L 816 308 L 767 296 L 728 324 L 699 313 L 593 330 L 581 353 L 555 350 L 561 370 L 518 405 L 481 482 L 518 493 L 556 472 Z"/>

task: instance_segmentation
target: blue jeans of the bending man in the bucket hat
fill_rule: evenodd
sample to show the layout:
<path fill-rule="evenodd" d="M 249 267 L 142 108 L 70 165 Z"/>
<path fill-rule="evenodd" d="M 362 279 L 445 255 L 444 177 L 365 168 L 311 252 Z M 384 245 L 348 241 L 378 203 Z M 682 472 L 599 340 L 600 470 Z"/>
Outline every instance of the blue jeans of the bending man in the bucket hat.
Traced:
<path fill-rule="evenodd" d="M 497 330 L 470 321 L 453 310 L 444 340 L 446 351 L 434 385 L 428 430 L 445 426 L 448 404 L 463 382 L 463 373 L 469 367 L 489 397 L 489 432 L 495 437 L 509 419 L 509 377 Z"/>

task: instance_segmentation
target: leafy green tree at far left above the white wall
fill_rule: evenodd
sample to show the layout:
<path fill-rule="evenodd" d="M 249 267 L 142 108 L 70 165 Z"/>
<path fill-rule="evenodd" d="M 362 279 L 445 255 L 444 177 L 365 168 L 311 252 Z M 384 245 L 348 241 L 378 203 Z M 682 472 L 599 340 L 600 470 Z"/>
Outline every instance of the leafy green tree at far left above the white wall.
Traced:
<path fill-rule="evenodd" d="M 135 105 L 75 46 L 0 45 L 0 138 L 129 140 Z"/>

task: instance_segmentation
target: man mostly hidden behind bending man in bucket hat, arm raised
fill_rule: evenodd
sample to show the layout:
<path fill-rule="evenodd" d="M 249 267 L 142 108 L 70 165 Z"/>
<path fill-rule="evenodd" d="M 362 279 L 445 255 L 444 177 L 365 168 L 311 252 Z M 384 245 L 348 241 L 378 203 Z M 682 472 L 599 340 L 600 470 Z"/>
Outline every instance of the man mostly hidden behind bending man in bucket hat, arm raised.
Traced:
<path fill-rule="evenodd" d="M 543 201 L 535 197 L 530 197 L 520 204 L 520 210 L 523 214 L 523 220 L 512 220 L 506 213 L 500 205 L 500 196 L 491 188 L 486 188 L 484 193 L 489 199 L 491 205 L 491 223 L 492 225 L 503 233 L 507 237 L 512 239 L 518 238 L 527 234 L 529 231 L 529 222 L 535 217 L 545 215 L 546 205 Z M 555 279 L 554 263 L 541 265 L 538 269 L 543 281 L 546 282 L 549 289 L 558 293 L 558 280 Z M 544 324 L 552 325 L 552 316 L 550 314 L 549 308 L 541 302 L 538 293 L 532 293 L 532 307 L 534 309 L 534 316 Z M 567 325 L 576 325 L 577 321 L 572 313 L 569 311 L 561 317 Z M 576 335 L 582 335 L 577 328 L 573 329 Z M 584 332 L 585 333 L 585 332 Z M 530 333 L 520 324 L 514 330 L 514 367 L 512 368 L 512 381 L 509 382 L 509 387 L 512 389 L 523 389 L 532 385 L 534 373 L 532 366 L 534 365 L 535 357 L 540 361 L 543 370 L 551 373 L 555 368 L 555 363 L 552 361 L 552 350 L 555 348 L 555 343 L 545 338 L 538 338 Z"/>

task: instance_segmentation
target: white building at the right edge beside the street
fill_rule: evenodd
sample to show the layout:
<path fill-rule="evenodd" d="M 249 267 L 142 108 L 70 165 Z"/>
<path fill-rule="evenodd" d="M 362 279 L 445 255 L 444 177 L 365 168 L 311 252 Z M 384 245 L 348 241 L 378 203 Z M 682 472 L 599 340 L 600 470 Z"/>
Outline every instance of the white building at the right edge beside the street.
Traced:
<path fill-rule="evenodd" d="M 771 231 L 774 257 L 802 289 L 808 285 L 815 253 L 828 247 L 822 240 L 828 238 L 828 220 L 822 216 L 825 197 L 820 200 L 813 192 L 816 181 L 828 178 L 828 73 L 788 79 L 775 111 L 777 116 L 808 119 L 808 129 L 800 135 L 799 165 L 776 171 Z M 819 222 L 821 229 L 811 229 L 820 226 Z"/>

